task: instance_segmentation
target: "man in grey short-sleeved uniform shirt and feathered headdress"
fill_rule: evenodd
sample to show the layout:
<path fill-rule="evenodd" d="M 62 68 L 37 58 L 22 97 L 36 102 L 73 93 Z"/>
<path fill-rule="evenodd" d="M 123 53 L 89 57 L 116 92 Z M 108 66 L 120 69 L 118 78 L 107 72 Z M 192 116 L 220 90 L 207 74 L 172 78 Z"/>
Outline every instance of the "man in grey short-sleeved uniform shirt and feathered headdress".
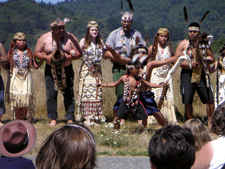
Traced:
<path fill-rule="evenodd" d="M 122 27 L 114 30 L 110 33 L 106 45 L 111 46 L 114 50 L 116 50 L 122 57 L 128 58 L 130 55 L 130 51 L 132 47 L 137 46 L 138 44 L 145 44 L 142 39 L 141 33 L 137 30 L 131 28 L 133 24 L 133 6 L 130 0 L 127 0 L 131 12 L 123 13 L 123 1 L 121 0 L 121 24 Z M 139 37 L 139 41 L 136 42 L 136 38 Z M 138 43 L 138 44 L 137 44 Z M 110 52 L 106 53 L 106 56 L 110 56 Z M 126 66 L 120 62 L 112 61 L 113 63 L 113 81 L 116 82 L 126 70 Z M 119 85 L 116 87 L 116 96 L 117 101 L 123 95 L 123 85 Z M 113 110 L 113 115 L 115 117 L 117 110 Z"/>

